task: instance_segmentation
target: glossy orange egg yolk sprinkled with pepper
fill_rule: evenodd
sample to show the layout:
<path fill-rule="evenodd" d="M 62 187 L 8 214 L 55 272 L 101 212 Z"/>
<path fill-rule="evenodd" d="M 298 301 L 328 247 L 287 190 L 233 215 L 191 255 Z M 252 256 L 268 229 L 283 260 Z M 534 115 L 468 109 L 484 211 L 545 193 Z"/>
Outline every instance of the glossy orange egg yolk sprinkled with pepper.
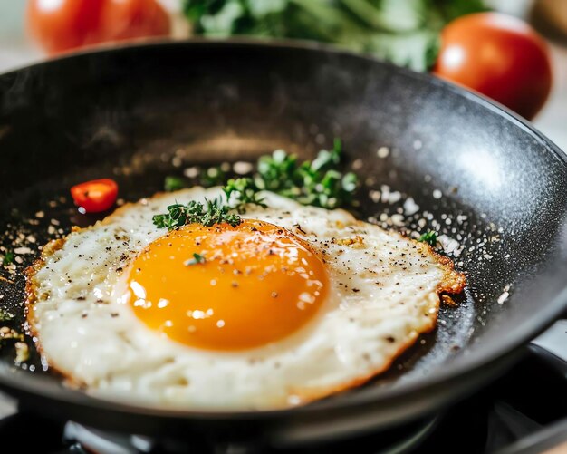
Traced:
<path fill-rule="evenodd" d="M 192 347 L 241 350 L 306 324 L 325 300 L 321 259 L 283 227 L 191 224 L 159 237 L 130 269 L 130 304 L 149 328 Z"/>

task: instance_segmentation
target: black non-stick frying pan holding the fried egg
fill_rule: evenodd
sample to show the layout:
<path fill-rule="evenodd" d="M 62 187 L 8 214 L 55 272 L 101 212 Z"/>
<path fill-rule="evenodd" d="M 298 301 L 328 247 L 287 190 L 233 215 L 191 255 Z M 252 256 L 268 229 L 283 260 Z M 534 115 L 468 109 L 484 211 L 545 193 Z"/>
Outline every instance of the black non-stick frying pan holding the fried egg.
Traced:
<path fill-rule="evenodd" d="M 474 94 L 350 53 L 242 41 L 162 43 L 1 76 L 0 244 L 18 233 L 43 243 L 51 218 L 65 232 L 93 221 L 59 199 L 85 179 L 114 176 L 121 197 L 133 200 L 189 165 L 255 159 L 276 148 L 312 157 L 333 137 L 341 137 L 351 163 L 361 159 L 359 173 L 370 186 L 410 195 L 466 246 L 456 259 L 467 272 L 466 295 L 456 308 L 442 308 L 438 329 L 390 372 L 293 410 L 161 411 L 72 391 L 56 374 L 40 372 L 36 354 L 24 371 L 5 348 L 2 389 L 29 408 L 101 428 L 291 443 L 416 418 L 504 371 L 567 300 L 566 159 L 529 123 Z M 391 150 L 386 159 L 377 157 L 381 146 Z M 173 157 L 181 167 L 172 166 Z M 397 205 L 371 202 L 368 190 L 360 195 L 360 217 L 395 211 Z M 38 210 L 45 217 L 30 225 Z M 466 220 L 448 225 L 446 217 L 457 215 Z M 17 325 L 21 273 L 14 281 L 0 282 L 0 304 L 20 315 Z M 498 304 L 506 285 L 510 296 Z"/>

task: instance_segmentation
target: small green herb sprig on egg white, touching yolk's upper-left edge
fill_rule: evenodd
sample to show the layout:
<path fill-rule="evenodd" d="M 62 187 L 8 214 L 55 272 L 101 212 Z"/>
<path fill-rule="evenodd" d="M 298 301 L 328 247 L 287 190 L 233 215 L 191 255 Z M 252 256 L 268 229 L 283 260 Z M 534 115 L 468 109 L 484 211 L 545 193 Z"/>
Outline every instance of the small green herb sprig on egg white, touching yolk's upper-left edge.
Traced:
<path fill-rule="evenodd" d="M 155 215 L 153 223 L 156 227 L 173 230 L 186 224 L 202 224 L 211 227 L 226 222 L 232 227 L 239 226 L 242 219 L 235 214 L 228 213 L 229 207 L 223 205 L 220 198 L 206 200 L 206 206 L 201 202 L 191 200 L 187 205 L 174 204 L 168 206 L 168 213 Z"/>

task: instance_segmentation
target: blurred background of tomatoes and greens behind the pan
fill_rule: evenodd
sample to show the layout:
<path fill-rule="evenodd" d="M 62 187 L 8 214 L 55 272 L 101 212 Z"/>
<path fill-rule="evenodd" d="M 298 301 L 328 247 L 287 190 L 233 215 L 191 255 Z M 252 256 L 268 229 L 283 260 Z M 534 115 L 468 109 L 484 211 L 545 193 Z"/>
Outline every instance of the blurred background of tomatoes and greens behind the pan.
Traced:
<path fill-rule="evenodd" d="M 0 72 L 103 42 L 194 34 L 317 40 L 434 72 L 533 120 L 567 150 L 567 0 L 5 1 Z"/>

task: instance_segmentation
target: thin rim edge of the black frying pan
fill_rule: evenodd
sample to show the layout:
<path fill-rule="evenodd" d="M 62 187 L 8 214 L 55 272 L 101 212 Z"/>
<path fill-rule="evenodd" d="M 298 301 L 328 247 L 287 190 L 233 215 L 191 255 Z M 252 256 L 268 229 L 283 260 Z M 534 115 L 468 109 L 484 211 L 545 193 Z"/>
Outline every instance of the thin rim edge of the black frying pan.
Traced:
<path fill-rule="evenodd" d="M 330 53 L 344 58 L 354 58 L 370 61 L 373 64 L 380 64 L 383 67 L 389 68 L 392 72 L 399 72 L 404 76 L 416 79 L 422 82 L 432 83 L 434 86 L 441 87 L 443 90 L 454 92 L 457 95 L 479 104 L 489 111 L 495 112 L 505 121 L 511 121 L 514 126 L 517 126 L 530 134 L 534 139 L 538 140 L 543 145 L 545 151 L 551 152 L 555 159 L 558 159 L 567 173 L 567 155 L 549 140 L 542 132 L 537 130 L 530 121 L 525 120 L 518 114 L 510 111 L 505 106 L 496 101 L 490 100 L 485 96 L 470 92 L 456 84 L 441 80 L 428 73 L 413 72 L 408 68 L 401 68 L 392 63 L 382 62 L 368 54 L 352 53 L 350 51 L 341 50 L 329 44 L 313 43 L 298 40 L 281 40 L 281 39 L 265 39 L 258 40 L 254 38 L 192 38 L 182 41 L 172 40 L 159 40 L 152 42 L 136 42 L 136 43 L 121 43 L 120 45 L 111 44 L 104 45 L 78 53 L 69 53 L 58 58 L 48 61 L 38 62 L 31 65 L 24 65 L 15 68 L 9 72 L 0 74 L 0 77 L 21 72 L 30 68 L 40 67 L 44 65 L 58 64 L 59 62 L 69 59 L 81 58 L 91 54 L 104 54 L 104 53 L 120 53 L 120 52 L 137 52 L 146 48 L 159 48 L 161 46 L 176 46 L 176 47 L 251 47 L 258 49 L 287 49 L 296 50 L 299 52 L 314 52 L 314 53 Z M 565 260 L 567 266 L 567 260 Z M 479 368 L 488 366 L 491 363 L 498 362 L 503 359 L 507 354 L 514 352 L 524 343 L 529 342 L 538 333 L 553 324 L 553 321 L 562 313 L 564 308 L 567 307 L 567 284 L 563 287 L 562 291 L 556 295 L 551 301 L 545 304 L 542 310 L 533 314 L 530 320 L 524 321 L 516 327 L 514 332 L 508 333 L 502 342 L 495 345 L 494 348 L 487 351 L 476 351 L 466 357 L 466 361 L 460 360 L 461 357 L 456 358 L 455 361 L 446 364 L 443 369 L 437 370 L 426 377 L 420 378 L 418 381 L 410 381 L 401 383 L 395 387 L 383 388 L 376 391 L 377 395 L 369 395 L 369 393 L 350 393 L 345 399 L 332 400 L 332 401 L 315 401 L 312 404 L 287 408 L 278 410 L 260 410 L 260 411 L 183 411 L 171 410 L 163 408 L 153 408 L 138 406 L 130 403 L 123 403 L 118 401 L 106 401 L 100 398 L 93 397 L 81 391 L 74 391 L 66 388 L 46 389 L 38 387 L 38 382 L 45 380 L 44 377 L 34 376 L 30 373 L 24 372 L 22 374 L 8 374 L 4 372 L 4 368 L 0 369 L 0 386 L 6 390 L 14 390 L 25 392 L 33 395 L 41 395 L 45 398 L 55 399 L 57 401 L 64 401 L 65 403 L 74 405 L 89 405 L 90 407 L 100 410 L 117 411 L 123 413 L 143 414 L 145 416 L 155 416 L 165 419 L 184 419 L 184 420 L 251 420 L 251 419 L 272 419 L 279 417 L 287 417 L 303 413 L 304 416 L 316 414 L 318 412 L 328 411 L 344 411 L 352 410 L 356 407 L 368 403 L 382 402 L 386 405 L 389 402 L 397 401 L 400 398 L 408 398 L 420 392 L 427 392 L 428 390 L 442 384 L 443 382 L 450 382 L 459 377 L 466 376 L 467 373 L 474 372 Z"/>

